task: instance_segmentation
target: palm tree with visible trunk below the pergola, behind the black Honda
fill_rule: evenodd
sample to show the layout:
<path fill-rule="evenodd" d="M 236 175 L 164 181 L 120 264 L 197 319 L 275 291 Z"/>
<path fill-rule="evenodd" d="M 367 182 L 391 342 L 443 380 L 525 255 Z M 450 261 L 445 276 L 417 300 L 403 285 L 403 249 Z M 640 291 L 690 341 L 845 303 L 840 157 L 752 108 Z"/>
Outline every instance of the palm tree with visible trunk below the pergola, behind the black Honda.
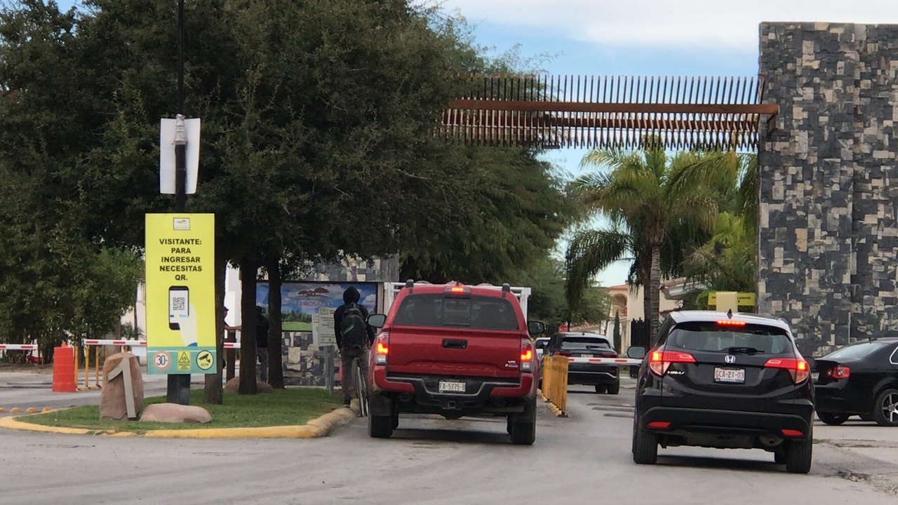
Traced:
<path fill-rule="evenodd" d="M 646 318 L 654 339 L 662 271 L 679 270 L 679 261 L 663 264 L 662 251 L 682 258 L 682 251 L 709 237 L 718 196 L 735 180 L 732 159 L 719 152 L 667 155 L 654 142 L 638 151 L 607 148 L 585 155 L 581 164 L 599 170 L 571 182 L 587 209 L 582 221 L 602 216 L 612 228 L 575 232 L 567 254 L 568 296 L 576 298 L 596 273 L 632 254 L 630 280 L 645 288 Z M 679 244 L 671 244 L 674 236 Z"/>

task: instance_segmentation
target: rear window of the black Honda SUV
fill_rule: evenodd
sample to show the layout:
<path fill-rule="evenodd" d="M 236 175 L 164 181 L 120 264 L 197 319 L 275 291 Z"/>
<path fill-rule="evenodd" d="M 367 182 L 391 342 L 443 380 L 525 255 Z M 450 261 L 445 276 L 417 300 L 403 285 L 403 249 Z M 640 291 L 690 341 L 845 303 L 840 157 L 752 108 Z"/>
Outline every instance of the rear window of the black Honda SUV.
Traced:
<path fill-rule="evenodd" d="M 714 322 L 680 323 L 667 343 L 679 349 L 709 352 L 780 354 L 792 350 L 786 332 L 764 324 L 727 327 Z"/>

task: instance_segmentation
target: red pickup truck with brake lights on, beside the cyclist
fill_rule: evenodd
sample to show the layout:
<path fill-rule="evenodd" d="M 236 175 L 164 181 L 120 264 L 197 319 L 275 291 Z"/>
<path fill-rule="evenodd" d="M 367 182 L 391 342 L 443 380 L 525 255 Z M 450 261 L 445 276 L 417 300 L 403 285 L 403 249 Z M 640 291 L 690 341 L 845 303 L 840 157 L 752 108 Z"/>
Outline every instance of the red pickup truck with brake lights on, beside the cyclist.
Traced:
<path fill-rule="evenodd" d="M 515 444 L 536 439 L 539 360 L 511 288 L 415 284 L 401 288 L 368 362 L 368 433 L 387 438 L 402 412 L 503 416 Z"/>

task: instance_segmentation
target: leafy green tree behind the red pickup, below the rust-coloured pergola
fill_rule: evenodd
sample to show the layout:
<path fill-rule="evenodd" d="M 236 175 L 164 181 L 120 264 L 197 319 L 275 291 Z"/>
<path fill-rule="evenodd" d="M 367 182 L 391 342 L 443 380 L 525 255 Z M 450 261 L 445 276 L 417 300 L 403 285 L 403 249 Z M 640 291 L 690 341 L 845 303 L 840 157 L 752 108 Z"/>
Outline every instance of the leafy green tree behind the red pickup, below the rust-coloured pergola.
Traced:
<path fill-rule="evenodd" d="M 546 261 L 574 215 L 563 178 L 523 148 L 466 149 L 453 171 L 469 173 L 438 205 L 449 215 L 403 247 L 401 279 L 494 284 Z"/>

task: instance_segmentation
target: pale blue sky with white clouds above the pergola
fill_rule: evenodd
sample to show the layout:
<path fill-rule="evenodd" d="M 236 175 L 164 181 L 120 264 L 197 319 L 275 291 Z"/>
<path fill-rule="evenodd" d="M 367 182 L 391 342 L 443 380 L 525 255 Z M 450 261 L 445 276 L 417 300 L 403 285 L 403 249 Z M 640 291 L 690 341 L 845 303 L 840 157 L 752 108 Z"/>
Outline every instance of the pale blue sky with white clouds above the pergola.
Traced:
<path fill-rule="evenodd" d="M 898 23 L 896 0 L 445 0 L 496 56 L 548 53 L 542 68 L 561 75 L 724 75 L 758 73 L 761 22 Z M 584 151 L 549 157 L 579 172 Z M 629 264 L 603 272 L 621 284 Z"/>

